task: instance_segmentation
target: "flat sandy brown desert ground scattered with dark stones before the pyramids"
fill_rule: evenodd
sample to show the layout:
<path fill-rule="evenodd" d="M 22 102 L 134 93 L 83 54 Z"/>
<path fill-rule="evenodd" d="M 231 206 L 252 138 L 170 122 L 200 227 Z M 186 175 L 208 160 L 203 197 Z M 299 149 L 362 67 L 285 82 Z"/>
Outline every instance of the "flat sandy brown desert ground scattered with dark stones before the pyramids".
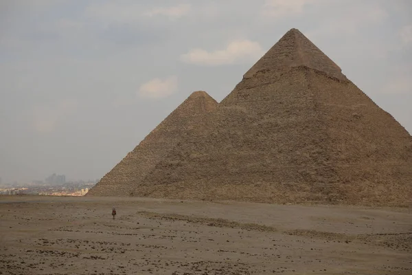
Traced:
<path fill-rule="evenodd" d="M 1 196 L 0 217 L 0 274 L 412 274 L 411 208 Z"/>

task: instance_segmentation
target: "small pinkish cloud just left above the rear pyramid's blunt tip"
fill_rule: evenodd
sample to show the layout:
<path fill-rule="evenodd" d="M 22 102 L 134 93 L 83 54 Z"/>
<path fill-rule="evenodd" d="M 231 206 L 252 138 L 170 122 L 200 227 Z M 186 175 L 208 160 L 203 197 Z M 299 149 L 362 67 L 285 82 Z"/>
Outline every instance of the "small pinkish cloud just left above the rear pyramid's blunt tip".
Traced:
<path fill-rule="evenodd" d="M 154 78 L 148 83 L 144 83 L 139 88 L 139 96 L 142 98 L 166 98 L 177 90 L 177 77 L 170 76 L 169 78 L 160 79 Z"/>

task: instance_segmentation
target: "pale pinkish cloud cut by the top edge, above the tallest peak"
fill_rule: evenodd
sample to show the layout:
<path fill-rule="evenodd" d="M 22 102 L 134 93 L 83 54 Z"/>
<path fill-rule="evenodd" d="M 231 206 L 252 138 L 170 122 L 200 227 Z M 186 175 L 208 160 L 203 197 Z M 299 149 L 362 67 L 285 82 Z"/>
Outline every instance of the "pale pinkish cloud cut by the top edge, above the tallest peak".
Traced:
<path fill-rule="evenodd" d="M 307 5 L 320 0 L 266 0 L 262 13 L 269 17 L 286 17 L 289 14 L 301 14 Z"/>

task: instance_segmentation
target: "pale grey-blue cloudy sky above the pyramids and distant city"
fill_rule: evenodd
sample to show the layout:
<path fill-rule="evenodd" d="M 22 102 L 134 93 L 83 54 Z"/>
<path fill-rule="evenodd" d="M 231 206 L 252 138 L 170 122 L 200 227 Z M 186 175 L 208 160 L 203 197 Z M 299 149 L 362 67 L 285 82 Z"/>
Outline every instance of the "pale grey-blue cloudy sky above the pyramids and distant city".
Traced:
<path fill-rule="evenodd" d="M 100 179 L 297 28 L 412 133 L 409 0 L 2 0 L 0 177 Z"/>

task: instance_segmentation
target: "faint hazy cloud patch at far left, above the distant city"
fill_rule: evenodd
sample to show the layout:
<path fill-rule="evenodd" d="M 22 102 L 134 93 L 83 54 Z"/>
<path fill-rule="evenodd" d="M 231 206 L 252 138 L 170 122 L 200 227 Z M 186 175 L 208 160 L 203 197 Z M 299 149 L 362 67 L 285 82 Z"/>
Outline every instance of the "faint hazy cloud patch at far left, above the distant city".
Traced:
<path fill-rule="evenodd" d="M 52 107 L 35 107 L 32 112 L 32 126 L 38 133 L 50 133 L 59 120 L 75 111 L 77 106 L 74 100 L 63 100 Z"/>

